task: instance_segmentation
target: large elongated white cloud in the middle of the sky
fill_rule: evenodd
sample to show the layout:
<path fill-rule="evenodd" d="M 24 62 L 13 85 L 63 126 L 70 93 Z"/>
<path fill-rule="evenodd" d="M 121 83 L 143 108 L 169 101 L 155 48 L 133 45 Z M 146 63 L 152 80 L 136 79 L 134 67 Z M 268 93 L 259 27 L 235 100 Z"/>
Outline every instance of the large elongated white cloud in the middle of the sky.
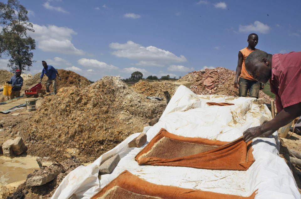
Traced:
<path fill-rule="evenodd" d="M 128 59 L 138 60 L 140 64 L 171 64 L 187 61 L 183 55 L 177 57 L 175 54 L 167 50 L 156 48 L 154 46 L 144 47 L 132 41 L 128 41 L 127 43 L 123 44 L 110 43 L 109 47 L 116 49 L 116 51 L 113 51 L 111 53 L 116 57 L 124 57 Z"/>

